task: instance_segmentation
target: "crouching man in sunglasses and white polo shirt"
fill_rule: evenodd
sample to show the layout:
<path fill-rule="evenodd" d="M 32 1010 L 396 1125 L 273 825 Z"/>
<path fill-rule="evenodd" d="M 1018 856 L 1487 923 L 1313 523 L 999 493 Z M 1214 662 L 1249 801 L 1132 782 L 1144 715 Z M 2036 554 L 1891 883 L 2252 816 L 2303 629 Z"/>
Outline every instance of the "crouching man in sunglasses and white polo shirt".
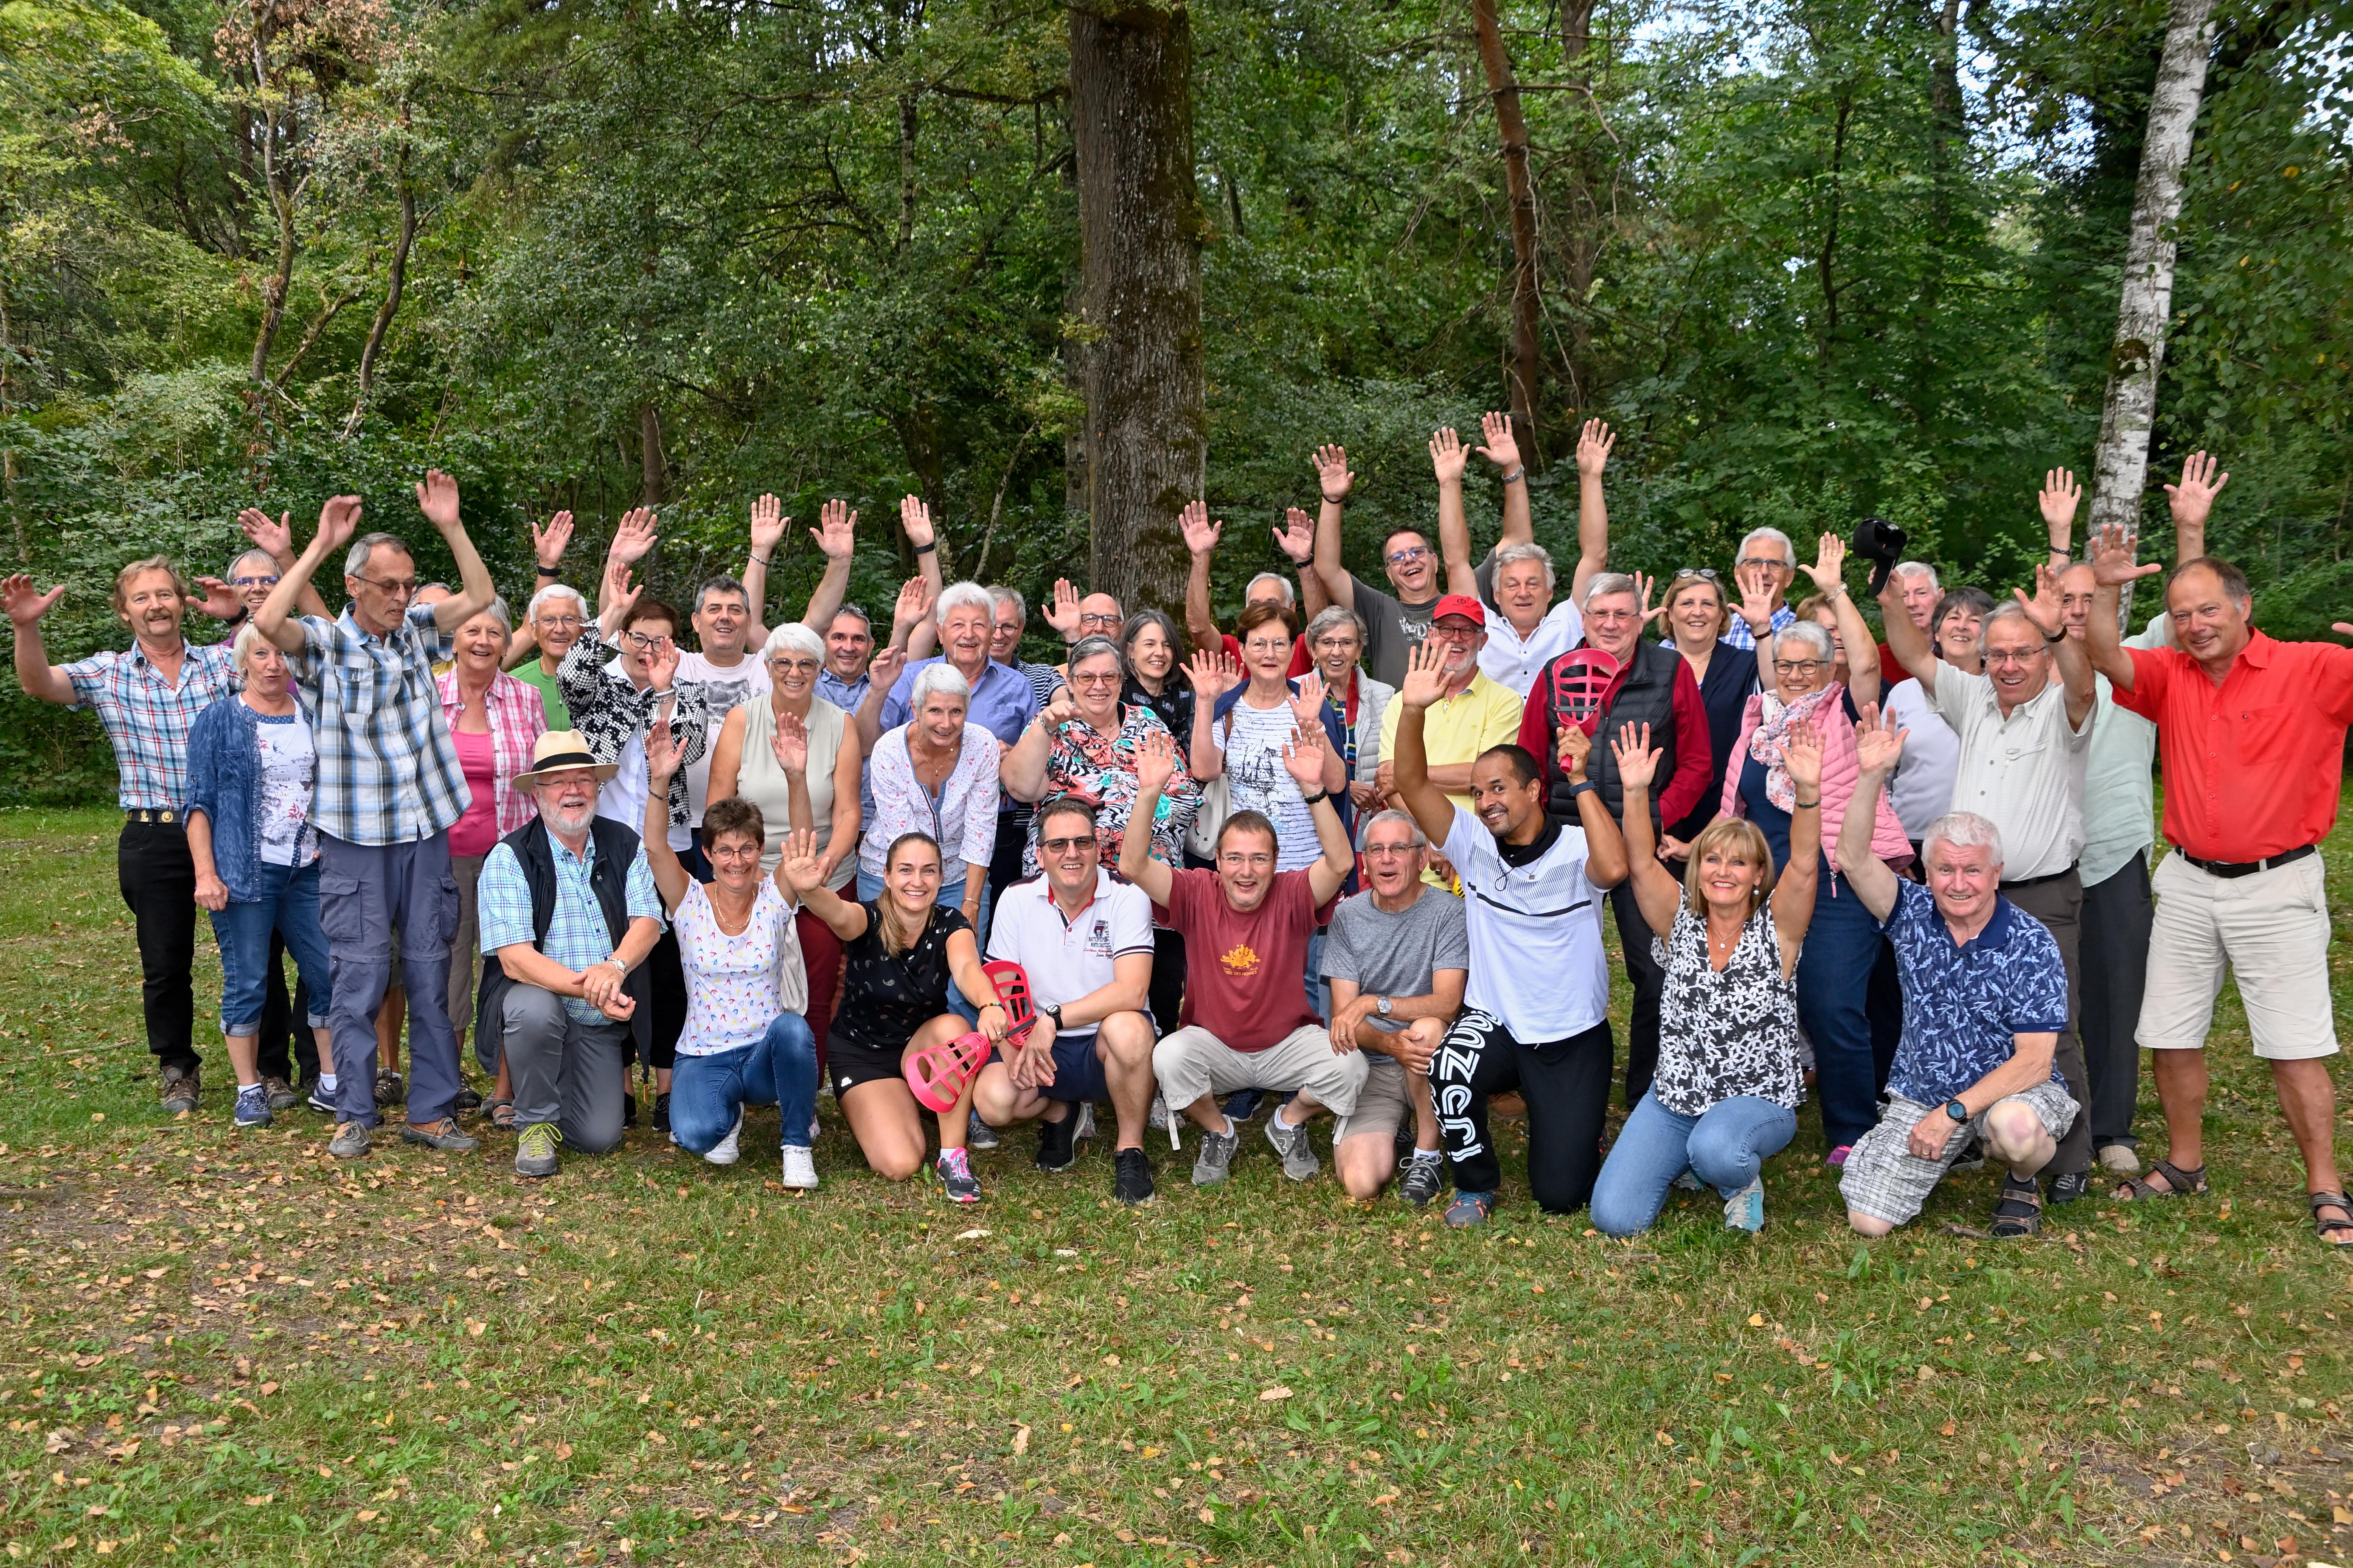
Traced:
<path fill-rule="evenodd" d="M 1148 835 L 1146 835 L 1148 837 Z M 1153 903 L 1104 870 L 1094 806 L 1052 799 L 1038 809 L 1038 865 L 1045 875 L 1005 891 L 988 929 L 988 957 L 1021 966 L 1038 1020 L 998 1048 L 972 1088 L 988 1126 L 1035 1117 L 1038 1168 L 1078 1159 L 1080 1110 L 1108 1098 L 1120 1119 L 1111 1194 L 1153 1197 L 1144 1157 L 1144 1114 L 1153 1103 Z"/>

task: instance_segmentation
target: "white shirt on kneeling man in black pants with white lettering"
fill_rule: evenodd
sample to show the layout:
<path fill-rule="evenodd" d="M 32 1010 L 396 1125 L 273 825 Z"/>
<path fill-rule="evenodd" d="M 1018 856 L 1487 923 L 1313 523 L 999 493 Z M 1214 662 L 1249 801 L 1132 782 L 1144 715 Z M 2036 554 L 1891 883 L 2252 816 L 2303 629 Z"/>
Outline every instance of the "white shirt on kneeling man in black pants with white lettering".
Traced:
<path fill-rule="evenodd" d="M 1602 896 L 1586 879 L 1586 830 L 1560 827 L 1537 860 L 1508 865 L 1487 823 L 1454 806 L 1445 853 L 1471 917 L 1464 1001 L 1501 1018 L 1525 1046 L 1584 1034 L 1607 1018 Z"/>

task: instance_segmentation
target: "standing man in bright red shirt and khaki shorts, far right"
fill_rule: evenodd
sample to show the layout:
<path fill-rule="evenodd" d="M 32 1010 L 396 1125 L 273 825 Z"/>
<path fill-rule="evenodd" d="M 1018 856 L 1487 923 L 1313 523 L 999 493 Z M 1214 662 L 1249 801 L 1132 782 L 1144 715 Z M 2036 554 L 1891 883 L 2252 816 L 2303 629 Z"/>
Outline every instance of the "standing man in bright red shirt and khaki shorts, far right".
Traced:
<path fill-rule="evenodd" d="M 2148 990 L 2139 1041 L 2165 1107 L 2167 1157 L 2118 1201 L 2205 1192 L 2205 1034 L 2224 964 L 2238 973 L 2254 1053 L 2287 1131 L 2304 1152 L 2313 1225 L 2353 1246 L 2353 1208 L 2337 1180 L 2337 1093 L 2322 1058 L 2337 1053 L 2329 1011 L 2329 903 L 2320 839 L 2337 825 L 2353 649 L 2273 642 L 2254 630 L 2254 597 L 2231 562 L 2202 555 L 2165 581 L 2169 649 L 2125 649 L 2118 590 L 2155 562 L 2132 562 L 2132 536 L 2108 527 L 2092 543 L 2099 585 L 2085 628 L 2115 705 L 2158 726 L 2165 759 L 2165 837 L 2174 853 L 2153 877 Z"/>

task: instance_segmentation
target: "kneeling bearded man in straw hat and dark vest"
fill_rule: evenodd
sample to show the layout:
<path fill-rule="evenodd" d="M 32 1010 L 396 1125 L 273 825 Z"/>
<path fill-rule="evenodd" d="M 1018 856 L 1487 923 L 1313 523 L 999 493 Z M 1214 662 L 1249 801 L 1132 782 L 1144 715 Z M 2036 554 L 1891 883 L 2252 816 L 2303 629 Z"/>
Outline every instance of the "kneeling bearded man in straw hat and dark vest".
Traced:
<path fill-rule="evenodd" d="M 638 835 L 595 813 L 614 776 L 579 731 L 551 729 L 515 785 L 539 816 L 492 844 L 478 884 L 482 999 L 475 1027 L 515 1081 L 515 1175 L 555 1175 L 558 1145 L 621 1143 L 621 1041 L 652 1034 L 645 954 L 661 893 Z"/>

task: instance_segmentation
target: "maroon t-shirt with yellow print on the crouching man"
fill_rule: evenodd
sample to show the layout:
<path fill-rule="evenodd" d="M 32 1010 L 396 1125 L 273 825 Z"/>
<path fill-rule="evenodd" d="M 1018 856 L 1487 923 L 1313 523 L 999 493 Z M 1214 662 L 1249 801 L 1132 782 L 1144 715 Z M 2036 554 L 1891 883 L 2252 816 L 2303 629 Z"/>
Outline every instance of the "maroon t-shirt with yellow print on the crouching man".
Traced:
<path fill-rule="evenodd" d="M 1308 1011 L 1308 938 L 1315 889 L 1308 872 L 1275 872 L 1257 910 L 1226 903 L 1212 870 L 1169 872 L 1160 912 L 1184 936 L 1186 987 L 1176 1025 L 1209 1030 L 1233 1051 L 1266 1051 L 1292 1030 L 1322 1023 Z"/>

